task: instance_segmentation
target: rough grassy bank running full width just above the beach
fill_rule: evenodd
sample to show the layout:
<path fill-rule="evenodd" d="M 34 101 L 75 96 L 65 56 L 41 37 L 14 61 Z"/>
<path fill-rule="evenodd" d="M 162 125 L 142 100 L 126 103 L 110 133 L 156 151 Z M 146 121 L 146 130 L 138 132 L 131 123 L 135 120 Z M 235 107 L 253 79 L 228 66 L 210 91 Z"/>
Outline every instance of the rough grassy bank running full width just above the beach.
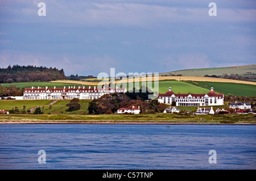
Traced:
<path fill-rule="evenodd" d="M 180 123 L 256 124 L 255 115 L 191 115 L 172 113 L 141 115 L 0 115 L 0 123 Z"/>

